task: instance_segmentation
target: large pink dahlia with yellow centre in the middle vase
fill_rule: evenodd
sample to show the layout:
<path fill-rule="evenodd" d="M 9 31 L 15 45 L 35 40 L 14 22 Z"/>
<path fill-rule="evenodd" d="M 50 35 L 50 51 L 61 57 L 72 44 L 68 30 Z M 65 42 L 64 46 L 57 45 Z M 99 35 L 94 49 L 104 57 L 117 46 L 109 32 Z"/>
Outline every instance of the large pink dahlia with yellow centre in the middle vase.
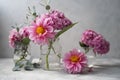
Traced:
<path fill-rule="evenodd" d="M 37 44 L 45 44 L 55 35 L 53 27 L 48 25 L 45 18 L 46 16 L 37 17 L 35 23 L 29 28 L 29 38 Z"/>

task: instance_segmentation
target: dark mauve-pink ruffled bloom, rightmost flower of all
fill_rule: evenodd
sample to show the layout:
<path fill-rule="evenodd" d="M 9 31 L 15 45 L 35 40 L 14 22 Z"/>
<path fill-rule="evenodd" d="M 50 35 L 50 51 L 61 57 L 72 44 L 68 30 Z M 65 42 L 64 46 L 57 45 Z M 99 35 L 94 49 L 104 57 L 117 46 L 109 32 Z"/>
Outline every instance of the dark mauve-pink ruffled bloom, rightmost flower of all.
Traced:
<path fill-rule="evenodd" d="M 110 44 L 102 36 L 97 36 L 93 40 L 93 51 L 98 54 L 106 54 L 109 51 Z"/>

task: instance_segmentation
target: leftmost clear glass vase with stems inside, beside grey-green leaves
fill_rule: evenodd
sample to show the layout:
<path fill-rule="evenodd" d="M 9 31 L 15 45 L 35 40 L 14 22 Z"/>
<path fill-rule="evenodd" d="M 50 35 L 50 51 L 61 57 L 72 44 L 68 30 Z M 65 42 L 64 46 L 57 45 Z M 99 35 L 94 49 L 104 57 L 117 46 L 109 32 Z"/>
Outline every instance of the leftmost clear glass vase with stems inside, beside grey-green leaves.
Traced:
<path fill-rule="evenodd" d="M 22 68 L 25 70 L 33 70 L 30 45 L 24 45 L 21 42 L 16 42 L 13 60 L 15 64 L 13 71 L 20 71 Z"/>

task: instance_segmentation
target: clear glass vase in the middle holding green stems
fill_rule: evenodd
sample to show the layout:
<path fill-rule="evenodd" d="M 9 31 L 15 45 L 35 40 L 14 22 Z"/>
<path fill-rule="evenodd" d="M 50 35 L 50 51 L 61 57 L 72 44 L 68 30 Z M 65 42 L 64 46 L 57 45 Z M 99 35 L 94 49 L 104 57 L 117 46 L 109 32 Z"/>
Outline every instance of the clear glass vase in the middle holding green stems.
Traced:
<path fill-rule="evenodd" d="M 42 45 L 41 51 L 41 67 L 44 70 L 60 70 L 61 69 L 61 52 L 62 47 L 59 38 L 46 45 Z"/>

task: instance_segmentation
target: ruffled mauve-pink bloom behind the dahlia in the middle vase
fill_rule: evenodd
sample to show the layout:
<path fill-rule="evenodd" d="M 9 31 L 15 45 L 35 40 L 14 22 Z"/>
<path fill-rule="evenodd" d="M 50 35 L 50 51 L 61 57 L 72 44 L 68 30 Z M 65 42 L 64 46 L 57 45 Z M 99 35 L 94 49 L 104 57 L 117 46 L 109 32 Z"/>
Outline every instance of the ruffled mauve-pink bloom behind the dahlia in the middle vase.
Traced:
<path fill-rule="evenodd" d="M 54 30 L 61 30 L 72 23 L 64 16 L 62 12 L 57 10 L 53 10 L 50 13 L 44 14 L 43 16 L 45 17 L 45 22 L 52 26 Z"/>

